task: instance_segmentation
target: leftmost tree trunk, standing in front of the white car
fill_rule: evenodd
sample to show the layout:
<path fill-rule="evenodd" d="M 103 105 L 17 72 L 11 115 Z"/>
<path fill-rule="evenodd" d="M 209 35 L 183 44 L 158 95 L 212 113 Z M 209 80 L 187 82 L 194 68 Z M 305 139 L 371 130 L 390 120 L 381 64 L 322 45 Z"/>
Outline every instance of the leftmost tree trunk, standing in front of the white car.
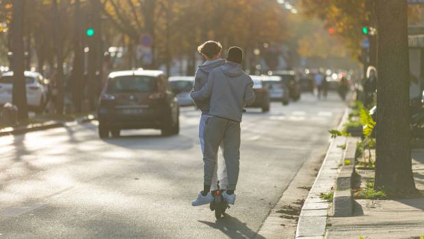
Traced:
<path fill-rule="evenodd" d="M 23 43 L 23 16 L 25 0 L 12 1 L 12 103 L 18 107 L 18 120 L 28 119 L 27 89 L 25 84 L 25 56 Z"/>

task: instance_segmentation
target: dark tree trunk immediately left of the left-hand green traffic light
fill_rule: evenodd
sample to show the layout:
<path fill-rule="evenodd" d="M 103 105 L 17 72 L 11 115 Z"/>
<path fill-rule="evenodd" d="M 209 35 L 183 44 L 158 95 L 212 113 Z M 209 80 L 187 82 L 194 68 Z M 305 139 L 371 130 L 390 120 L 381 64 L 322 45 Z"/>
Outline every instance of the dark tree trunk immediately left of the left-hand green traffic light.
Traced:
<path fill-rule="evenodd" d="M 75 0 L 74 10 L 74 61 L 72 64 L 71 85 L 72 85 L 72 103 L 75 112 L 81 112 L 83 102 L 83 71 L 84 71 L 84 55 L 82 43 L 81 29 L 81 8 L 80 1 Z"/>

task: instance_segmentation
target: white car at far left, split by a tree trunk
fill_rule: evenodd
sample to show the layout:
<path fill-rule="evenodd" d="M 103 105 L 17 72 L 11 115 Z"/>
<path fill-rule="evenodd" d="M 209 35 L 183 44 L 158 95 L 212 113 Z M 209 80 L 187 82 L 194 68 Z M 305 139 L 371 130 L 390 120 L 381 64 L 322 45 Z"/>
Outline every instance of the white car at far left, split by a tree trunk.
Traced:
<path fill-rule="evenodd" d="M 42 111 L 47 98 L 48 81 L 38 72 L 25 71 L 27 86 L 28 109 L 36 112 Z M 0 77 L 0 105 L 12 102 L 13 72 L 3 72 Z"/>

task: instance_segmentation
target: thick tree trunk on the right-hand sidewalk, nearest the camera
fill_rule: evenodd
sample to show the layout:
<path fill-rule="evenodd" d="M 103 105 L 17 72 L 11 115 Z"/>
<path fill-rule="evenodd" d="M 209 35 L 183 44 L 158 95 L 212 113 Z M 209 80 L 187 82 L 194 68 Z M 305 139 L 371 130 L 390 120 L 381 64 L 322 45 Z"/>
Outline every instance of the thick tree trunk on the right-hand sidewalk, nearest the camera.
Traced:
<path fill-rule="evenodd" d="M 375 1 L 377 52 L 377 159 L 375 188 L 414 193 L 410 150 L 408 16 L 406 1 Z"/>

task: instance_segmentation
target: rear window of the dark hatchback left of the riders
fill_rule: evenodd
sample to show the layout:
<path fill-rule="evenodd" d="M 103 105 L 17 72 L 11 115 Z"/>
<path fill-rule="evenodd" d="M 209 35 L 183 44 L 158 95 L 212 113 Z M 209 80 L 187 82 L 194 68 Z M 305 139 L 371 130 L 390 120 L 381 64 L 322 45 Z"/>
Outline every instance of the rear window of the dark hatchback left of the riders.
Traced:
<path fill-rule="evenodd" d="M 107 83 L 108 93 L 142 93 L 156 89 L 156 79 L 152 76 L 117 76 Z"/>

